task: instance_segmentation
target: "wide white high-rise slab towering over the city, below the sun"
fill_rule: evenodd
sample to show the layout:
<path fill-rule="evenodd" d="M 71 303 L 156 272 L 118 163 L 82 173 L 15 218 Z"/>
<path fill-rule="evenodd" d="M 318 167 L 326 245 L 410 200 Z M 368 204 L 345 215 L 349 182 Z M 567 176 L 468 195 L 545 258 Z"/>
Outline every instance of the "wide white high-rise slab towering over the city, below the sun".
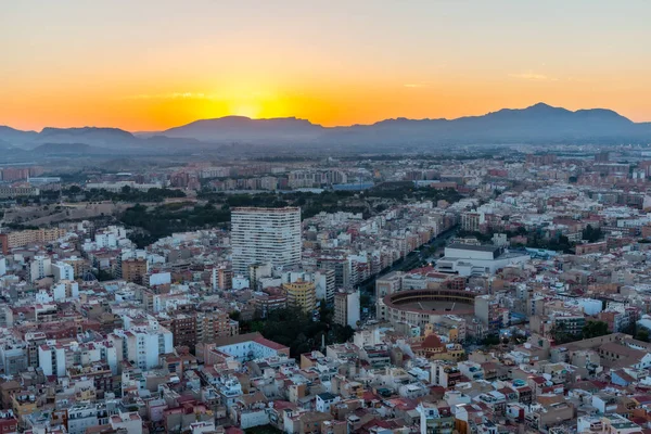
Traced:
<path fill-rule="evenodd" d="M 253 264 L 288 267 L 301 263 L 301 208 L 233 208 L 233 275 Z"/>

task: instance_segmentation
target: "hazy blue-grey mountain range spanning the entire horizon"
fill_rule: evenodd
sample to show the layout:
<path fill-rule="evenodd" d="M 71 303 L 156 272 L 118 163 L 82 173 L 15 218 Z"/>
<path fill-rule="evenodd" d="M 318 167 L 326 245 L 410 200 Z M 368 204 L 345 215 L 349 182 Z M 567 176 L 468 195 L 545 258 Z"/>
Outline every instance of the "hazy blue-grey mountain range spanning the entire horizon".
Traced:
<path fill-rule="evenodd" d="M 346 127 L 323 127 L 294 117 L 251 119 L 243 116 L 201 119 L 164 131 L 135 133 L 95 127 L 43 128 L 36 132 L 0 126 L 0 149 L 37 150 L 39 153 L 58 150 L 95 154 L 148 150 L 178 152 L 233 143 L 358 149 L 417 145 L 435 149 L 448 144 L 649 142 L 651 123 L 634 123 L 610 110 L 572 112 L 544 103 L 456 119 L 396 118 Z M 50 152 L 46 152 L 48 150 Z"/>

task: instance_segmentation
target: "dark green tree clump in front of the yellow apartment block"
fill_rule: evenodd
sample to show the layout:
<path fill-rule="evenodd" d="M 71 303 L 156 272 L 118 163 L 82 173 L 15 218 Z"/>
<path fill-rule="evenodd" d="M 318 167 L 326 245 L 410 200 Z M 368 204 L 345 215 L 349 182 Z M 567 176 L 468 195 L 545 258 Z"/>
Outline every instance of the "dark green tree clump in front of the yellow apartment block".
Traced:
<path fill-rule="evenodd" d="M 290 355 L 298 358 L 304 353 L 319 349 L 322 336 L 326 337 L 326 345 L 343 343 L 353 337 L 355 331 L 348 326 L 335 324 L 333 315 L 333 310 L 323 304 L 317 321 L 299 308 L 277 309 L 265 319 L 240 321 L 240 331 L 260 332 L 266 339 L 289 346 Z M 237 314 L 235 318 L 239 319 Z"/>

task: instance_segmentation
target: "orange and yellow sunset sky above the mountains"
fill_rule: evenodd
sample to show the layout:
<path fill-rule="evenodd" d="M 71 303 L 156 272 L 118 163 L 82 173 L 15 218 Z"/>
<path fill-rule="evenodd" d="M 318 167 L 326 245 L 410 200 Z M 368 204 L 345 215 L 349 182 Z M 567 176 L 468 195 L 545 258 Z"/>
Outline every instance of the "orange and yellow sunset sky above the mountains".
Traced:
<path fill-rule="evenodd" d="M 537 102 L 651 120 L 647 0 L 0 1 L 0 125 L 21 129 Z"/>

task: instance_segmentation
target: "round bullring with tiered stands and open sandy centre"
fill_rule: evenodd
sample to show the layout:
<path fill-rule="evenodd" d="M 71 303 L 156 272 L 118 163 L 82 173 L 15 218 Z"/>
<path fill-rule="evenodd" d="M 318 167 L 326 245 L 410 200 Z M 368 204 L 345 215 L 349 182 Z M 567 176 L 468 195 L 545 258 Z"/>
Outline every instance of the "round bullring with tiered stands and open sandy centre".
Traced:
<path fill-rule="evenodd" d="M 378 317 L 422 327 L 445 315 L 474 315 L 475 296 L 475 293 L 458 290 L 400 291 L 382 298 Z"/>

